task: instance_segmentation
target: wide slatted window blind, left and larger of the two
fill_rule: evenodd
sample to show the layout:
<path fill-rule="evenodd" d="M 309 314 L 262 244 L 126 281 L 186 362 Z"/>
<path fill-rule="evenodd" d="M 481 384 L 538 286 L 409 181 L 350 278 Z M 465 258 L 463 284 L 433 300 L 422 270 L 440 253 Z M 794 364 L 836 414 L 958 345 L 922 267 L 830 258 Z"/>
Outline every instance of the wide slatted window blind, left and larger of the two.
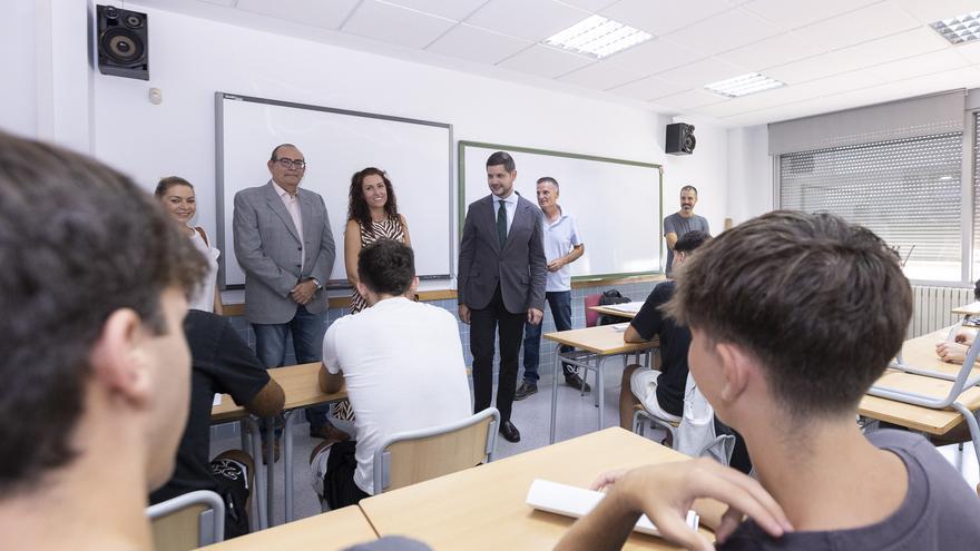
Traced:
<path fill-rule="evenodd" d="M 959 282 L 961 164 L 962 132 L 784 154 L 780 205 L 871 228 L 910 279 Z"/>

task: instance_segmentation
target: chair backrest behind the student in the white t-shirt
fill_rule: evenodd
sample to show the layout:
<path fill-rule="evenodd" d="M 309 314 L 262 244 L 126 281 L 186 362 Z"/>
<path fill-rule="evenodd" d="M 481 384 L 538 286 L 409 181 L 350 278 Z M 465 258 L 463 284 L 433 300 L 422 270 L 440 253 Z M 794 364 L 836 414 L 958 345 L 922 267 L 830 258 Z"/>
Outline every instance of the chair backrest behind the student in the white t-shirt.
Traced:
<path fill-rule="evenodd" d="M 374 494 L 493 461 L 500 412 L 393 434 L 374 451 Z"/>

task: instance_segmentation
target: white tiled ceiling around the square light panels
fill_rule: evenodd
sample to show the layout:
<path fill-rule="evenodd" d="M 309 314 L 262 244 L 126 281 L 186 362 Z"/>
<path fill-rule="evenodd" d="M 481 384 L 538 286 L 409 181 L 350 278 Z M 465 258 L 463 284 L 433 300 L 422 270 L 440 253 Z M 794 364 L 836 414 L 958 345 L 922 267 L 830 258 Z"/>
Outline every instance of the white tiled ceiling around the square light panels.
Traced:
<path fill-rule="evenodd" d="M 980 87 L 980 42 L 929 23 L 967 0 L 140 0 L 270 32 L 748 126 Z M 543 46 L 592 13 L 654 35 L 595 60 Z M 746 72 L 788 86 L 727 99 Z"/>

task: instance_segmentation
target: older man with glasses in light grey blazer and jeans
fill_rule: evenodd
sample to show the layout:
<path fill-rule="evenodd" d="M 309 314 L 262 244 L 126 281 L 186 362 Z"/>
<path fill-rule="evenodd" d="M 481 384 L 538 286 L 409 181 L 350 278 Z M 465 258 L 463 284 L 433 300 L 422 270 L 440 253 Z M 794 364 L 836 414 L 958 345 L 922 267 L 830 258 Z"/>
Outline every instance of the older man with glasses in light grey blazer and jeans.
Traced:
<path fill-rule="evenodd" d="M 323 313 L 335 257 L 323 197 L 300 188 L 306 160 L 283 144 L 266 164 L 268 184 L 235 194 L 235 255 L 245 270 L 245 318 L 266 367 L 283 365 L 292 335 L 297 363 L 320 362 Z M 326 420 L 329 407 L 306 410 L 310 435 L 343 440 Z"/>

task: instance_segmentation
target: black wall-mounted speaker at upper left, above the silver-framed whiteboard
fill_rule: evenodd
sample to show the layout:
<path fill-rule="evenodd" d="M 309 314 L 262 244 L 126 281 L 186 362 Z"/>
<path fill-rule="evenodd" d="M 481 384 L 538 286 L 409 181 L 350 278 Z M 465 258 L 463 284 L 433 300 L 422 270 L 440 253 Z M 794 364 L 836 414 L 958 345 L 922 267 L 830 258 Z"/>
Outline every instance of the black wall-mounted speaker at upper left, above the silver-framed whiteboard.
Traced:
<path fill-rule="evenodd" d="M 146 13 L 96 6 L 96 24 L 99 72 L 149 80 Z"/>

